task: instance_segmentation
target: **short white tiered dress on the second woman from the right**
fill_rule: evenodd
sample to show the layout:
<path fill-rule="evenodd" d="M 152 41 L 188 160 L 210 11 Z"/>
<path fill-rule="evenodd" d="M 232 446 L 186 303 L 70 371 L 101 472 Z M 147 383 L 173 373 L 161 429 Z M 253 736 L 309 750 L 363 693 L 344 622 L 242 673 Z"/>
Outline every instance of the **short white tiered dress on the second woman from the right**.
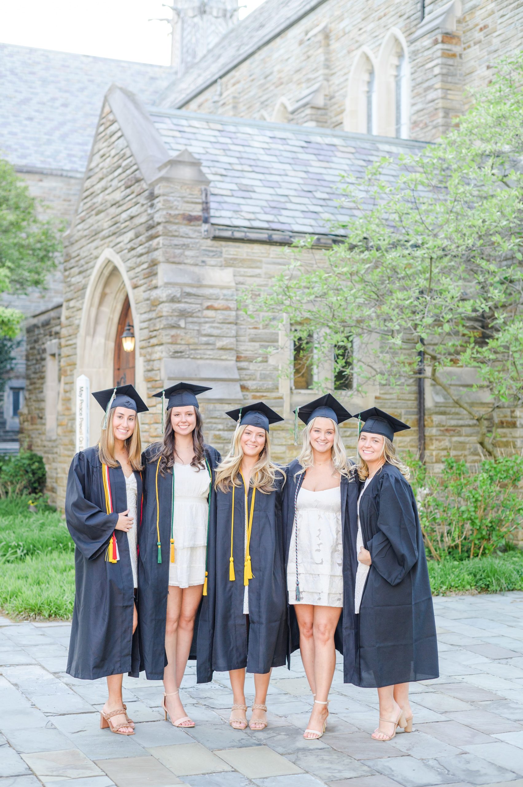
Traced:
<path fill-rule="evenodd" d="M 296 552 L 299 601 L 296 601 Z M 339 486 L 321 492 L 311 492 L 301 487 L 296 499 L 296 519 L 290 539 L 287 586 L 289 604 L 343 607 Z"/>

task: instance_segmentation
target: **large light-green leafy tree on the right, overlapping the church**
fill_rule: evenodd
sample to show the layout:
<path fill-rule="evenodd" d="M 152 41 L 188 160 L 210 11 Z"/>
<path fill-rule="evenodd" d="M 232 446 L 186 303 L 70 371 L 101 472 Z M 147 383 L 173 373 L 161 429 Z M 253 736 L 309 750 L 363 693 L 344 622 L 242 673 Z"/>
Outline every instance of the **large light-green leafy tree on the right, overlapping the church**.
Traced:
<path fill-rule="evenodd" d="M 430 379 L 475 419 L 489 456 L 492 414 L 523 401 L 522 84 L 517 54 L 459 127 L 395 162 L 395 179 L 386 157 L 363 179 L 344 179 L 347 218 L 332 228 L 344 240 L 313 261 L 296 254 L 270 291 L 245 298 L 248 314 L 285 316 L 289 337 L 309 342 L 309 357 L 334 357 L 335 373 L 359 338 L 356 389 Z M 481 396 L 466 395 L 461 370 Z"/>

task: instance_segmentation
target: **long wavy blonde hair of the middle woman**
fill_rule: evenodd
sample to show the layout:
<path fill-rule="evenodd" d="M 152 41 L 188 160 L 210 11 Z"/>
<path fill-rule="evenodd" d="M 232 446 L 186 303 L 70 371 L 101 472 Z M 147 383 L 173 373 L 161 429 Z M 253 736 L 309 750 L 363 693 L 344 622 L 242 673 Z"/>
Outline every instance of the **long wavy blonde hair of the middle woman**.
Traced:
<path fill-rule="evenodd" d="M 249 424 L 245 423 L 244 426 L 239 427 L 234 432 L 230 441 L 229 453 L 223 457 L 223 460 L 216 468 L 215 489 L 220 492 L 228 492 L 233 485 L 241 486 L 241 480 L 238 478 L 241 460 L 243 459 L 241 435 L 248 426 Z M 264 494 L 274 491 L 277 472 L 281 473 L 283 478 L 286 478 L 282 468 L 271 461 L 271 441 L 269 440 L 269 433 L 266 432 L 265 445 L 263 445 L 258 461 L 252 467 L 250 486 L 256 486 L 256 489 Z"/>

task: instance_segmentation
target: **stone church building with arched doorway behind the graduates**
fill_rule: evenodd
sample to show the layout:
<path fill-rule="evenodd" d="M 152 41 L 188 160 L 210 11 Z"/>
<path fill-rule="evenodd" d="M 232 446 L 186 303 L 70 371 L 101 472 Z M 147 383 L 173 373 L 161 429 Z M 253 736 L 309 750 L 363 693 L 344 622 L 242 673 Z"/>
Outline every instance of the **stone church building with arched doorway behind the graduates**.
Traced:
<path fill-rule="evenodd" d="M 315 235 L 322 253 L 340 173 L 357 175 L 385 153 L 393 176 L 401 152 L 447 131 L 467 91 L 521 46 L 521 22 L 523 6 L 509 0 L 265 0 L 181 76 L 162 73 L 156 97 L 121 81 L 105 94 L 72 211 L 61 309 L 28 323 L 28 388 L 55 393 L 46 419 L 24 409 L 24 440 L 46 457 L 57 501 L 75 451 L 79 375 L 92 390 L 134 382 L 152 405 L 145 442 L 160 435 L 154 391 L 179 379 L 212 386 L 202 411 L 219 449 L 233 427 L 227 405 L 263 397 L 289 416 L 315 396 L 303 375 L 279 374 L 293 349 L 284 331 L 241 312 L 241 288 L 269 282 L 296 237 Z M 267 346 L 278 353 L 264 357 Z M 342 388 L 349 409 L 376 404 L 411 423 L 399 443 L 416 450 L 415 386 L 364 399 Z M 90 442 L 98 416 L 92 409 Z M 293 453 L 290 426 L 272 431 L 279 459 Z M 521 446 L 520 413 L 497 426 L 506 445 Z M 429 464 L 449 450 L 470 456 L 474 434 L 471 419 L 425 390 Z"/>

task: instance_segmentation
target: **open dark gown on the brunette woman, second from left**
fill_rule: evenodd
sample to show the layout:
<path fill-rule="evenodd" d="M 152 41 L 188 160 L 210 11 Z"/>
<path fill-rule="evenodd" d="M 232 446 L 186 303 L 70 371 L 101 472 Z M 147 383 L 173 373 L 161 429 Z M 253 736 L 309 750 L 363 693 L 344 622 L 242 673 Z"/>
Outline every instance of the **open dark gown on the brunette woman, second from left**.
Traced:
<path fill-rule="evenodd" d="M 165 619 L 169 588 L 169 562 L 171 549 L 171 504 L 172 473 L 158 473 L 158 500 L 160 501 L 160 543 L 162 562 L 158 563 L 157 547 L 157 461 L 152 460 L 157 453 L 157 445 L 149 445 L 142 455 L 144 466 L 144 502 L 142 527 L 138 532 L 138 620 L 140 621 L 140 669 L 151 681 L 164 678 L 167 664 L 165 655 Z M 205 445 L 205 456 L 211 467 L 212 493 L 211 509 L 215 497 L 214 471 L 221 460 L 216 449 Z M 199 616 L 198 616 L 199 617 Z M 194 626 L 195 635 L 198 617 Z M 190 659 L 196 658 L 196 636 L 193 640 Z"/>

